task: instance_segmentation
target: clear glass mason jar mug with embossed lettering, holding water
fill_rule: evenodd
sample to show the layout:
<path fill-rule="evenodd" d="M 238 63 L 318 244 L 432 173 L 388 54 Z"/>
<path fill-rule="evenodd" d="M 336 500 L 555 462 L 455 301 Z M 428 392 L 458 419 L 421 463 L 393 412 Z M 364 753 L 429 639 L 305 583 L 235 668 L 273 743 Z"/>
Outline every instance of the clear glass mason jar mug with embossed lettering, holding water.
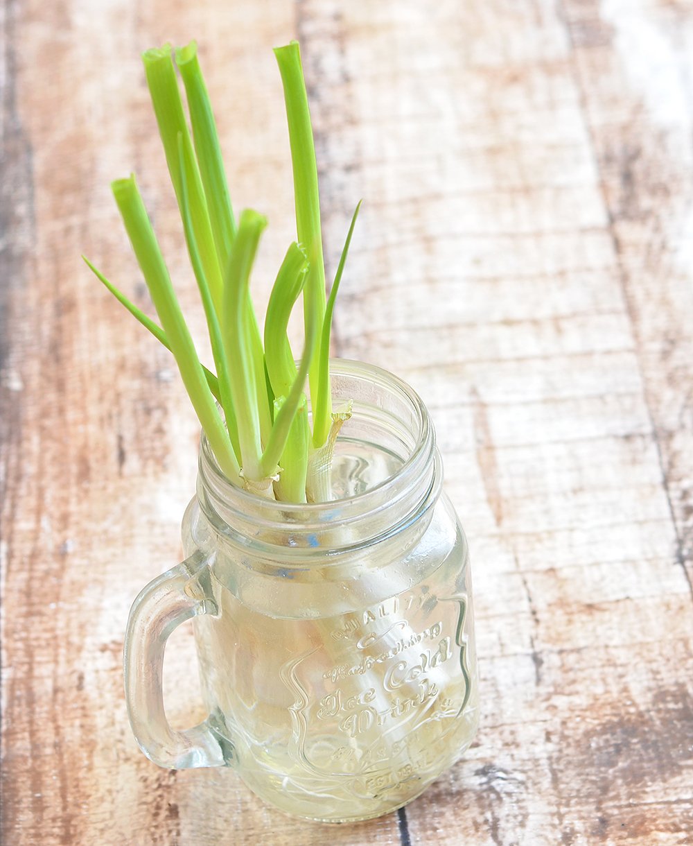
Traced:
<path fill-rule="evenodd" d="M 357 821 L 404 805 L 467 749 L 477 661 L 467 541 L 434 429 L 395 376 L 331 363 L 352 403 L 330 502 L 232 485 L 205 437 L 183 519 L 186 561 L 135 600 L 125 644 L 130 722 L 160 766 L 232 766 L 290 814 Z M 166 722 L 166 638 L 194 617 L 209 716 Z"/>

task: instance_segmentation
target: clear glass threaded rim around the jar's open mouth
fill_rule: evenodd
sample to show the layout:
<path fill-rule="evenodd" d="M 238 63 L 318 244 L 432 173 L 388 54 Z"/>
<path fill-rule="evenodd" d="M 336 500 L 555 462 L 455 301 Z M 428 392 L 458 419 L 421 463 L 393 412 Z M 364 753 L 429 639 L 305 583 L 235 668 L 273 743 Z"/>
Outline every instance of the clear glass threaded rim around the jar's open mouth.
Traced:
<path fill-rule="evenodd" d="M 286 524 L 286 522 L 289 522 L 305 525 L 312 522 L 322 523 L 321 515 L 334 511 L 336 507 L 345 512 L 354 511 L 358 514 L 367 513 L 371 508 L 378 508 L 379 503 L 384 501 L 384 495 L 390 489 L 394 486 L 400 486 L 403 481 L 407 480 L 407 477 L 413 477 L 421 472 L 423 466 L 428 464 L 428 460 L 433 458 L 435 436 L 433 425 L 428 416 L 428 409 L 426 409 L 417 392 L 399 376 L 395 376 L 382 367 L 363 361 L 341 358 L 330 359 L 330 376 L 351 376 L 368 379 L 390 393 L 399 394 L 400 398 L 407 402 L 417 421 L 418 431 L 415 446 L 401 466 L 385 479 L 369 487 L 368 490 L 349 497 L 340 497 L 321 503 L 287 503 L 262 497 L 258 493 L 245 490 L 243 487 L 234 484 L 221 470 L 210 447 L 210 442 L 203 431 L 200 437 L 200 471 L 203 475 L 206 475 L 207 472 L 213 474 L 217 486 L 217 495 L 221 494 L 227 501 L 235 501 L 237 505 L 248 508 L 248 510 L 262 508 L 266 515 L 264 520 L 269 518 L 272 521 L 271 515 L 276 514 L 278 523 Z"/>

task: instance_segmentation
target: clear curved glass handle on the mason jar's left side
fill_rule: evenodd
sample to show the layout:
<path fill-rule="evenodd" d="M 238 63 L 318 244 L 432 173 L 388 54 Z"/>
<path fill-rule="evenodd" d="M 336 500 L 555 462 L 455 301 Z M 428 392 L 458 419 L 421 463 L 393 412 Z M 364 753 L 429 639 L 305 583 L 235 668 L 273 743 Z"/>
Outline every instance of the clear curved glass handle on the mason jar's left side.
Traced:
<path fill-rule="evenodd" d="M 182 770 L 226 766 L 215 733 L 205 720 L 176 731 L 166 719 L 161 688 L 166 640 L 173 629 L 198 614 L 216 614 L 216 602 L 200 577 L 209 558 L 194 552 L 150 581 L 133 603 L 125 633 L 123 664 L 128 717 L 139 748 L 155 764 Z"/>

